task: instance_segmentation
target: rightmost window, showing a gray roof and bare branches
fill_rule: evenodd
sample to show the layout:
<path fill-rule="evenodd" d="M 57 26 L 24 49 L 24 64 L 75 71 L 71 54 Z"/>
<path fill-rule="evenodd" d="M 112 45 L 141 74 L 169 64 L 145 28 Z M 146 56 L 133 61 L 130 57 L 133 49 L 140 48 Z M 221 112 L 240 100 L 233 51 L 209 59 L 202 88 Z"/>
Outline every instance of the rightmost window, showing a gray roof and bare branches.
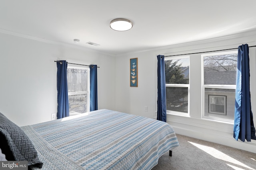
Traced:
<path fill-rule="evenodd" d="M 237 51 L 202 55 L 203 117 L 234 120 Z"/>

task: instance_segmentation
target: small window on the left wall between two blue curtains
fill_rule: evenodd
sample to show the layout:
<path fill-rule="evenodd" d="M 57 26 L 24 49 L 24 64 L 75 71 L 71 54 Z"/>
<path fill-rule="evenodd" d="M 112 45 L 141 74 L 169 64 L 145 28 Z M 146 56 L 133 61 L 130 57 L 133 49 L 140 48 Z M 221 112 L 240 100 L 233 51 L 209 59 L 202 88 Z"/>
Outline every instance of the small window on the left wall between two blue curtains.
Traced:
<path fill-rule="evenodd" d="M 68 102 L 70 114 L 85 113 L 89 111 L 90 86 L 89 68 L 68 66 Z"/>

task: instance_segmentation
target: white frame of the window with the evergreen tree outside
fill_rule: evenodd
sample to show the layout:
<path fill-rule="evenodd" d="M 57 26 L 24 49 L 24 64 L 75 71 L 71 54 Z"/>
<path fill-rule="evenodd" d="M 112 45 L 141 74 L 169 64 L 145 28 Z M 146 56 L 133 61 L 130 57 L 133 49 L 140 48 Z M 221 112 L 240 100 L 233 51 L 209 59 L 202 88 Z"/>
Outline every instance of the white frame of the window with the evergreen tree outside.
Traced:
<path fill-rule="evenodd" d="M 172 111 L 172 110 L 167 110 L 166 109 L 166 114 L 172 114 L 172 115 L 182 115 L 182 116 L 189 116 L 190 115 L 190 56 L 186 55 L 186 56 L 178 56 L 178 57 L 164 57 L 164 61 L 167 60 L 177 60 L 177 59 L 188 59 L 189 62 L 189 83 L 188 84 L 165 84 L 166 88 L 167 87 L 186 87 L 188 88 L 188 113 L 184 113 L 184 112 L 178 112 L 178 111 Z M 167 100 L 167 96 L 166 96 L 166 100 Z"/>

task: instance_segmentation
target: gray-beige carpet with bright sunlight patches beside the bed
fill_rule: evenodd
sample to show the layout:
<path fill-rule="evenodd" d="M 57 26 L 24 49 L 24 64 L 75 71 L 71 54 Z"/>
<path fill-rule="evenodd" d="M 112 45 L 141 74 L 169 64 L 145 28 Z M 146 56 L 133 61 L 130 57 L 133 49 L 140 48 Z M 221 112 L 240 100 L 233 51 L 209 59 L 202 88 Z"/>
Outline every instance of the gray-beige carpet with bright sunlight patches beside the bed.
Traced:
<path fill-rule="evenodd" d="M 152 170 L 256 170 L 256 154 L 177 134 L 180 147 Z"/>

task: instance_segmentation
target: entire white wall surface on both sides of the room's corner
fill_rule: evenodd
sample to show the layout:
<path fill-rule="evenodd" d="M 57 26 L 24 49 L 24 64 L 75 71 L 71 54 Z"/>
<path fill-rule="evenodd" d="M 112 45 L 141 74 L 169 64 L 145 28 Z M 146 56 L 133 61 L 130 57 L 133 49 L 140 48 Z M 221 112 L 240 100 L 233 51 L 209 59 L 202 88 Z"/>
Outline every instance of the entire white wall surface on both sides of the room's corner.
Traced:
<path fill-rule="evenodd" d="M 135 115 L 156 118 L 156 55 L 184 54 L 236 48 L 243 43 L 256 45 L 256 31 L 172 45 L 152 51 L 129 53 L 113 57 L 74 45 L 38 41 L 0 33 L 0 112 L 19 126 L 49 121 L 57 112 L 56 63 L 97 64 L 98 108 L 113 109 Z M 251 99 L 256 125 L 256 48 L 250 48 Z M 200 57 L 191 62 L 200 63 Z M 138 87 L 130 87 L 130 58 L 138 58 Z M 200 66 L 190 72 L 200 72 Z M 256 152 L 256 141 L 233 139 L 233 125 L 201 119 L 200 75 L 190 77 L 190 117 L 168 115 L 167 121 L 178 134 L 212 141 L 238 149 Z M 148 111 L 144 107 L 148 106 Z"/>

